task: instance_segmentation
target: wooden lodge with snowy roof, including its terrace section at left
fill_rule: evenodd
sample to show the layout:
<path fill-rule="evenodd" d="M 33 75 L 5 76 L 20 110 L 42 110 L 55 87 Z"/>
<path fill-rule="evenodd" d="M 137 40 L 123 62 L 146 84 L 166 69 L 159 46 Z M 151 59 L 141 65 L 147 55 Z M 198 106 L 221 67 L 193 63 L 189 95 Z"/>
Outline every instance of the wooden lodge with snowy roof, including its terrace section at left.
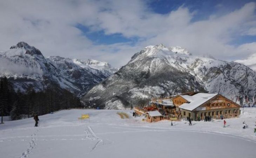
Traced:
<path fill-rule="evenodd" d="M 158 109 L 163 119 L 191 117 L 192 120 L 199 116 L 201 120 L 204 116 L 217 119 L 221 115 L 224 118 L 236 117 L 240 115 L 241 108 L 220 94 L 207 92 L 188 92 L 168 99 L 151 100 L 151 106 Z"/>

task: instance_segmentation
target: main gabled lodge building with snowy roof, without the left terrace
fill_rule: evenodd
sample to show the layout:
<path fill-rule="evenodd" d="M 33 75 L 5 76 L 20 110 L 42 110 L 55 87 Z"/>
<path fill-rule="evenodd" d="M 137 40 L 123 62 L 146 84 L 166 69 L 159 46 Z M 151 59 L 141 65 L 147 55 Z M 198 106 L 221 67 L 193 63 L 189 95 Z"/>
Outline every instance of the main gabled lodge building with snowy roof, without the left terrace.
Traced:
<path fill-rule="evenodd" d="M 240 115 L 241 106 L 220 94 L 196 93 L 177 95 L 172 98 L 176 106 L 176 115 L 193 120 L 204 116 L 211 118 L 236 117 Z"/>

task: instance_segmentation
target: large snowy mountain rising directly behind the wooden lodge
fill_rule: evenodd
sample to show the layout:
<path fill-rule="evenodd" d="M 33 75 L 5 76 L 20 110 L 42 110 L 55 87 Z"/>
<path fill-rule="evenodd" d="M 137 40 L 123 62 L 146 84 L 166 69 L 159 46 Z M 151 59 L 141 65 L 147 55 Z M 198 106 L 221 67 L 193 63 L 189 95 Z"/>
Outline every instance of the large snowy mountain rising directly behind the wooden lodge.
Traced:
<path fill-rule="evenodd" d="M 220 93 L 234 101 L 238 96 L 241 102 L 245 95 L 252 100 L 256 72 L 243 64 L 193 56 L 177 46 L 147 46 L 82 101 L 88 106 L 123 108 L 187 91 Z"/>

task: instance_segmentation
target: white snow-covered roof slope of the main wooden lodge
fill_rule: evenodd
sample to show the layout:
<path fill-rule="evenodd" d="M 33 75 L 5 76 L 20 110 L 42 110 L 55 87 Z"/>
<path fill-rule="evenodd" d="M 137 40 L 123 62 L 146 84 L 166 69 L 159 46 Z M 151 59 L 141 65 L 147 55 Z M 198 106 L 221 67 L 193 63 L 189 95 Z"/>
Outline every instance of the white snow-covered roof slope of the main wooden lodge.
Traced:
<path fill-rule="evenodd" d="M 195 95 L 180 95 L 182 98 L 186 99 L 190 103 L 183 103 L 179 108 L 192 111 L 202 105 L 203 103 L 207 102 L 208 100 L 212 99 L 218 95 L 217 93 L 197 93 Z"/>

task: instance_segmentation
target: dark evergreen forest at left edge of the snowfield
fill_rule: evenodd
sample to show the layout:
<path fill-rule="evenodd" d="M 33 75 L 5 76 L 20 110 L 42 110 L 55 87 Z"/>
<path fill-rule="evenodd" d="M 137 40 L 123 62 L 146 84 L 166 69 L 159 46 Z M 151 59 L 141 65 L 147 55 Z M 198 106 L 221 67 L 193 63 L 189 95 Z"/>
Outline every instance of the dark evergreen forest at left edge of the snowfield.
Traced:
<path fill-rule="evenodd" d="M 48 87 L 41 92 L 29 87 L 22 93 L 19 89 L 15 92 L 6 77 L 0 79 L 0 113 L 1 116 L 11 115 L 12 120 L 78 107 L 82 107 L 79 98 L 58 86 Z"/>

